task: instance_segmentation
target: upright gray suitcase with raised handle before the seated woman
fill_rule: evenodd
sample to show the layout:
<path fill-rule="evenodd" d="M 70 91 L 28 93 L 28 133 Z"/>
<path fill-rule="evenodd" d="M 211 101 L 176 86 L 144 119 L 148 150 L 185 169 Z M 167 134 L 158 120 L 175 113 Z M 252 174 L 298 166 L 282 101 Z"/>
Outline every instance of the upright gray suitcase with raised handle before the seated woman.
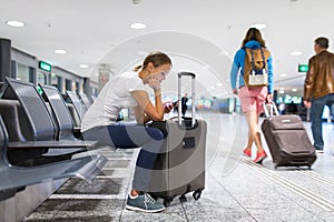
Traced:
<path fill-rule="evenodd" d="M 153 125 L 158 125 L 157 128 L 165 125 L 166 129 L 163 129 L 163 132 L 168 133 L 163 152 L 157 158 L 150 183 L 150 194 L 154 198 L 164 199 L 166 206 L 178 195 L 180 201 L 186 201 L 185 195 L 191 191 L 194 191 L 194 199 L 198 200 L 205 189 L 207 124 L 204 120 L 195 119 L 195 74 L 193 73 L 178 73 L 179 104 L 183 75 L 190 75 L 193 79 L 191 118 L 181 118 L 179 105 L 178 118 L 171 118 L 165 124 L 157 123 L 155 125 L 154 123 Z"/>

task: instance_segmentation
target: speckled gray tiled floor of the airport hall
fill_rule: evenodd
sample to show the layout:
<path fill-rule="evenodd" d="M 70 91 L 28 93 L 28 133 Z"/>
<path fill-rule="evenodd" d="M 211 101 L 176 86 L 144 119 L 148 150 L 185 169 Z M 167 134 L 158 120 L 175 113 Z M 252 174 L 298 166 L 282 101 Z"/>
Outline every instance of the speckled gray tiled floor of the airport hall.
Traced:
<path fill-rule="evenodd" d="M 198 201 L 188 194 L 187 202 L 175 199 L 155 214 L 125 210 L 137 151 L 104 149 L 109 163 L 101 175 L 92 183 L 70 179 L 26 221 L 334 221 L 332 124 L 323 125 L 325 153 L 317 154 L 311 171 L 275 170 L 271 158 L 258 165 L 240 155 L 247 135 L 244 117 L 199 118 L 207 121 L 208 134 L 206 188 Z"/>

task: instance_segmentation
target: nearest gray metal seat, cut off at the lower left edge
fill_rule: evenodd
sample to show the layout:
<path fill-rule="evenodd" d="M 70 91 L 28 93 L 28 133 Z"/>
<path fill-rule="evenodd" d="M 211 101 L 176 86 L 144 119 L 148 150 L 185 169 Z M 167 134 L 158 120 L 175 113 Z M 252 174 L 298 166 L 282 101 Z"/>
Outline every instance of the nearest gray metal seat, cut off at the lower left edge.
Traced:
<path fill-rule="evenodd" d="M 78 176 L 91 181 L 107 159 L 95 154 L 87 154 L 72 160 L 48 163 L 38 167 L 14 167 L 7 159 L 8 133 L 0 115 L 0 200 L 14 195 L 17 190 L 27 185 L 41 183 L 48 180 Z M 21 142 L 23 145 L 24 142 Z"/>

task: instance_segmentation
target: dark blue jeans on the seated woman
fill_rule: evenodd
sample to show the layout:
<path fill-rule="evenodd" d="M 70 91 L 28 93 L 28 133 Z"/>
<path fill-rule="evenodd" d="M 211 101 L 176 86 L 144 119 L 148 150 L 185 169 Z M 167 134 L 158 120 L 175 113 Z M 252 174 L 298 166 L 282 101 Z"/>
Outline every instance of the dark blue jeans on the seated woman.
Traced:
<path fill-rule="evenodd" d="M 137 124 L 112 124 L 96 127 L 85 131 L 85 140 L 97 140 L 100 145 L 119 149 L 140 148 L 134 174 L 132 188 L 149 191 L 154 163 L 164 143 L 164 133 L 149 127 Z"/>

